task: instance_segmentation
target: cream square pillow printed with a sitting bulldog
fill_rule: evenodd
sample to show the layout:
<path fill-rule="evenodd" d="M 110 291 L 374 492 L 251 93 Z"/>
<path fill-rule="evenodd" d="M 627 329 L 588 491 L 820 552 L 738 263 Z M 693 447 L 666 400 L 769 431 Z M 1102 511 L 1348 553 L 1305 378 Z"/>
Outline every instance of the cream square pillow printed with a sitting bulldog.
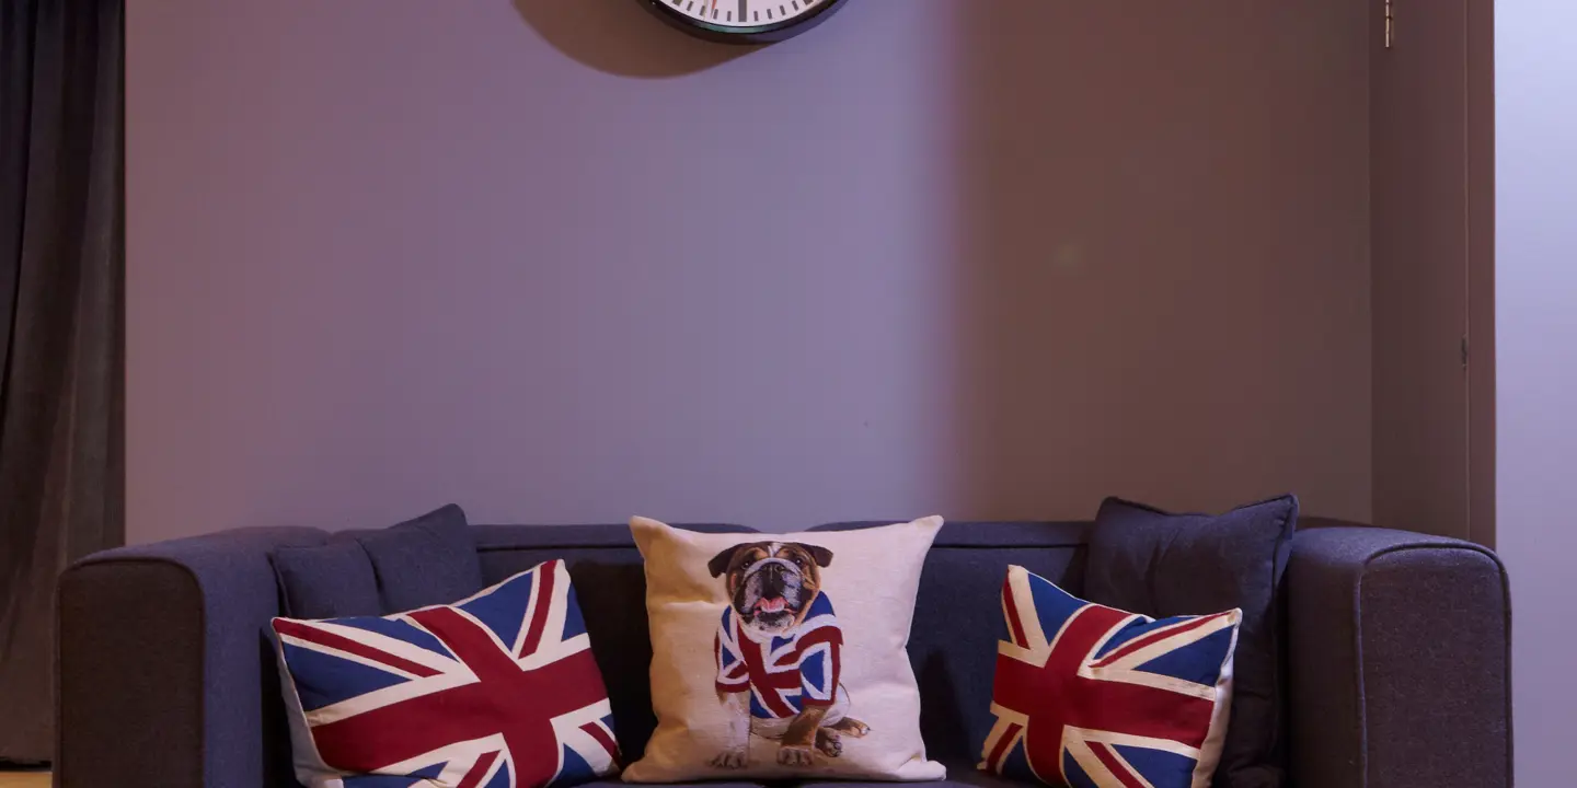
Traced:
<path fill-rule="evenodd" d="M 940 528 L 702 534 L 631 520 L 658 730 L 624 780 L 943 779 L 905 649 Z"/>

